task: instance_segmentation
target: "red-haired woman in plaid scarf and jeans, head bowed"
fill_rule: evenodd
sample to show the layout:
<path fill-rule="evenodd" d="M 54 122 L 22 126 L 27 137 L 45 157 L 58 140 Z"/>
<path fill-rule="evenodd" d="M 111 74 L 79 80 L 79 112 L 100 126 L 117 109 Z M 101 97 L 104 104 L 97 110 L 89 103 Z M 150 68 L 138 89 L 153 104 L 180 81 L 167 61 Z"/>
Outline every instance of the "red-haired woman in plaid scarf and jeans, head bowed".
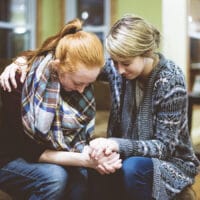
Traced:
<path fill-rule="evenodd" d="M 86 167 L 102 174 L 121 167 L 119 154 L 96 161 L 87 148 L 95 116 L 91 83 L 104 65 L 102 44 L 75 19 L 22 56 L 26 81 L 17 74 L 18 87 L 1 90 L 0 188 L 19 200 L 88 199 Z"/>

